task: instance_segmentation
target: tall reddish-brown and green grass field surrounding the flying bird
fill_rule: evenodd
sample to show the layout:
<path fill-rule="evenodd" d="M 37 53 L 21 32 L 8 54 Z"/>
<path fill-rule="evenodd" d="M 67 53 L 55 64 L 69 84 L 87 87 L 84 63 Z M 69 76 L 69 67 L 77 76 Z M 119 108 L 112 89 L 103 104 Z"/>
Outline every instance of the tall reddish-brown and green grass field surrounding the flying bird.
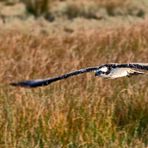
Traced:
<path fill-rule="evenodd" d="M 7 83 L 109 62 L 147 62 L 148 24 L 38 37 L 0 35 L 1 147 L 146 147 L 147 76 L 81 75 L 37 89 Z"/>

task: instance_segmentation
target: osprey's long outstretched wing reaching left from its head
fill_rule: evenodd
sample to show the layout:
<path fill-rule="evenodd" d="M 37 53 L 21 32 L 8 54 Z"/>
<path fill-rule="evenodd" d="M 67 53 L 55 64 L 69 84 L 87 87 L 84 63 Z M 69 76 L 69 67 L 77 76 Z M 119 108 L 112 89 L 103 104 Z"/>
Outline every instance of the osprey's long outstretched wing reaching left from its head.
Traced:
<path fill-rule="evenodd" d="M 45 85 L 49 85 L 53 82 L 56 82 L 58 80 L 67 79 L 69 77 L 79 75 L 79 74 L 82 74 L 82 73 L 93 72 L 97 69 L 99 69 L 99 67 L 88 67 L 88 68 L 76 70 L 76 71 L 73 71 L 73 72 L 70 72 L 70 73 L 67 73 L 67 74 L 63 74 L 61 76 L 53 77 L 53 78 L 21 81 L 21 82 L 16 82 L 16 83 L 10 83 L 10 85 L 21 86 L 21 87 L 45 86 Z"/>

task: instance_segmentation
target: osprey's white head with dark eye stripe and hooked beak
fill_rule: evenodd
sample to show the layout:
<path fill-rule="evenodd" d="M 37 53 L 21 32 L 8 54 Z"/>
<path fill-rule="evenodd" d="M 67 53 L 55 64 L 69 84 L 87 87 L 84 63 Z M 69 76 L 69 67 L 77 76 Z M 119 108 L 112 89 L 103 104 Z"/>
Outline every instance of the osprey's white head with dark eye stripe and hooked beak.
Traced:
<path fill-rule="evenodd" d="M 95 76 L 102 76 L 105 77 L 109 75 L 111 72 L 111 67 L 108 65 L 100 67 L 98 70 L 95 72 Z"/>

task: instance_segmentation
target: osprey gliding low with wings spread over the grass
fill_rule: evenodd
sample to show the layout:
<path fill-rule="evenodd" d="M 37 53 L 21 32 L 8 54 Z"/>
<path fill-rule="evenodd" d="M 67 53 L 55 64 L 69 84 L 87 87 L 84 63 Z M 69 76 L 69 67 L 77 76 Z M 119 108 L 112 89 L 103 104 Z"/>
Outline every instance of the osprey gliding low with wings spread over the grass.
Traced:
<path fill-rule="evenodd" d="M 94 72 L 95 76 L 115 79 L 125 76 L 140 75 L 148 72 L 148 63 L 130 63 L 130 64 L 104 64 L 96 67 L 87 67 L 84 69 L 72 71 L 53 78 L 37 79 L 37 80 L 27 80 L 16 83 L 10 83 L 12 86 L 21 87 L 39 87 L 49 85 L 53 82 L 67 79 L 69 77 L 79 75 L 82 73 Z"/>

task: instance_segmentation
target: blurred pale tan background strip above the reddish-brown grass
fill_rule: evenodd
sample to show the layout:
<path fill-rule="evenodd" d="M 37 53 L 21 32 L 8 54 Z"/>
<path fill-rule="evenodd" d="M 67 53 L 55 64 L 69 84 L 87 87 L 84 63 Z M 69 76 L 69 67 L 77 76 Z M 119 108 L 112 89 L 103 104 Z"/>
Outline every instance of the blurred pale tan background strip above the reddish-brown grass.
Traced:
<path fill-rule="evenodd" d="M 140 22 L 147 8 L 147 0 L 1 0 L 0 25 L 30 33 L 73 33 Z"/>

